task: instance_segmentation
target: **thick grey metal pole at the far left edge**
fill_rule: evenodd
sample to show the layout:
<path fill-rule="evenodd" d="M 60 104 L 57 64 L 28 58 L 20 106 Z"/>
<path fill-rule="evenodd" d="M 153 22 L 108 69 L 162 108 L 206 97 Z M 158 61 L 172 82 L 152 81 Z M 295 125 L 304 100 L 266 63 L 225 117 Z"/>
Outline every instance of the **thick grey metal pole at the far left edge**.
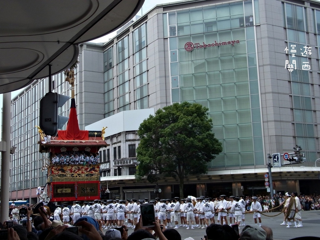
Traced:
<path fill-rule="evenodd" d="M 2 141 L 6 149 L 1 154 L 1 205 L 0 222 L 9 219 L 9 183 L 10 183 L 10 133 L 11 133 L 11 92 L 3 94 Z"/>

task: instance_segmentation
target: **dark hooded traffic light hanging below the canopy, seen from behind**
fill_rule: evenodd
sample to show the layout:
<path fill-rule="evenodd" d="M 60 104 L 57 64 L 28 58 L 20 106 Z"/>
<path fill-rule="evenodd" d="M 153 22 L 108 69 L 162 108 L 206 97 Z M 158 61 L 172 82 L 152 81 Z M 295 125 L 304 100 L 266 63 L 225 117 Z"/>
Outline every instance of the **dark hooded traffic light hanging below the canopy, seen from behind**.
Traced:
<path fill-rule="evenodd" d="M 70 97 L 48 92 L 40 100 L 40 128 L 46 135 L 56 135 L 58 129 L 68 121 L 68 117 L 59 116 L 58 108 L 62 107 Z"/>

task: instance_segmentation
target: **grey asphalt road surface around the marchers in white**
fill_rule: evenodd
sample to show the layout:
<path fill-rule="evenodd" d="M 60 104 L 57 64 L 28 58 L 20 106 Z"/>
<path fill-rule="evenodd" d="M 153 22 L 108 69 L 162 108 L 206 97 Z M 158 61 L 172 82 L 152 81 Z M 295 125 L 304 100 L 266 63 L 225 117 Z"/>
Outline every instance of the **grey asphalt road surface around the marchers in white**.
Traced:
<path fill-rule="evenodd" d="M 274 215 L 275 213 L 267 213 Z M 262 225 L 266 225 L 273 230 L 274 240 L 289 240 L 300 236 L 320 236 L 320 210 L 318 211 L 305 211 L 301 213 L 302 216 L 302 228 L 286 228 L 286 226 L 281 226 L 280 223 L 283 222 L 283 215 L 276 217 L 266 217 L 262 216 Z M 217 221 L 217 217 L 215 217 Z M 229 218 L 228 218 L 229 220 Z M 251 214 L 246 214 L 246 225 L 254 224 Z M 187 237 L 192 237 L 195 240 L 200 240 L 205 235 L 205 229 L 178 229 L 182 240 Z M 241 231 L 241 230 L 240 230 Z M 105 232 L 105 230 L 104 230 Z M 130 235 L 133 229 L 129 228 L 128 234 Z"/>

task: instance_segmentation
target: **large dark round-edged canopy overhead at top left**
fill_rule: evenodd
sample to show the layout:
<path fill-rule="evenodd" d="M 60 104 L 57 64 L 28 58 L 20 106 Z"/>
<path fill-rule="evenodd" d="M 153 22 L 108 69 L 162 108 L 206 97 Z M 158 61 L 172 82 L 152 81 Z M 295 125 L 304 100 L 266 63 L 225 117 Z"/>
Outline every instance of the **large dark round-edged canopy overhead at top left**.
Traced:
<path fill-rule="evenodd" d="M 0 0 L 0 93 L 59 73 L 79 54 L 78 44 L 132 19 L 144 0 Z"/>

